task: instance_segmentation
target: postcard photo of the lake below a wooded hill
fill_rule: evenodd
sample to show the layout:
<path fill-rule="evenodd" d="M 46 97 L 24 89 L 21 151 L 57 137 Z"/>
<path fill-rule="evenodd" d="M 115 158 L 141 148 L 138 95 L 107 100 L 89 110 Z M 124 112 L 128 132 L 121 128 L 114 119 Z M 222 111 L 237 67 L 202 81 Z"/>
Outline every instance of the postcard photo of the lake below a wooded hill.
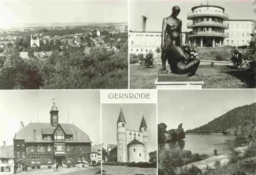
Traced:
<path fill-rule="evenodd" d="M 159 175 L 255 174 L 256 92 L 235 91 L 159 91 Z"/>

